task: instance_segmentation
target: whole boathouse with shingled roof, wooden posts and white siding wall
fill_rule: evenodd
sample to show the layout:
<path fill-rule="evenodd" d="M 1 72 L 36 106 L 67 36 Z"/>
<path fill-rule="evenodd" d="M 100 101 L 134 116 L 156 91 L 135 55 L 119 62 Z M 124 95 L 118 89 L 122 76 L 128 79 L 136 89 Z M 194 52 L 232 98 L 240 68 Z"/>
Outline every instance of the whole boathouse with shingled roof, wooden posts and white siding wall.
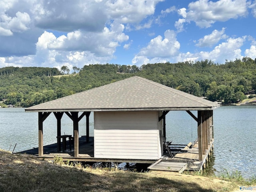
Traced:
<path fill-rule="evenodd" d="M 134 76 L 38 104 L 25 111 L 38 112 L 38 156 L 41 158 L 51 157 L 49 153 L 44 154 L 43 122 L 50 113 L 54 113 L 58 146 L 52 154 L 58 152 L 65 159 L 80 161 L 152 162 L 164 154 L 166 114 L 172 110 L 184 110 L 198 122 L 198 160 L 202 161 L 214 141 L 212 116 L 218 106 L 216 102 Z M 197 116 L 191 111 L 197 111 Z M 91 112 L 94 112 L 93 140 L 89 136 Z M 73 135 L 61 135 L 63 114 L 73 121 Z M 84 116 L 86 142 L 93 142 L 92 154 L 80 149 L 82 142 L 79 140 L 78 122 Z M 73 144 L 66 149 L 65 142 L 71 144 L 70 140 Z M 63 153 L 61 144 L 65 145 Z"/>

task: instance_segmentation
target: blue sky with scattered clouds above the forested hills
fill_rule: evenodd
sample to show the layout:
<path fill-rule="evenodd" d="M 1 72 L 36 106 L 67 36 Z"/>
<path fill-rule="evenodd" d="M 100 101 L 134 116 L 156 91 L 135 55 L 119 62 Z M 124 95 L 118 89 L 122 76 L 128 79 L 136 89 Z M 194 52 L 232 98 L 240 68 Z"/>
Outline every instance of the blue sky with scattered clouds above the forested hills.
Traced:
<path fill-rule="evenodd" d="M 256 58 L 256 0 L 0 0 L 0 68 Z"/>

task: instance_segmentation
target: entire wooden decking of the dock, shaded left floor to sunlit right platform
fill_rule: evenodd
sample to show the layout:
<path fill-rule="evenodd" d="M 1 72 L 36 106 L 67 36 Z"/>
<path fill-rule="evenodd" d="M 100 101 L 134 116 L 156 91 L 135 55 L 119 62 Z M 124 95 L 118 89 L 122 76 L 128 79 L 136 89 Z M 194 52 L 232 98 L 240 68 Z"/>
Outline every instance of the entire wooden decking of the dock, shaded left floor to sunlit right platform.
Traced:
<path fill-rule="evenodd" d="M 74 157 L 74 149 L 65 150 L 64 152 L 57 152 L 57 144 L 51 144 L 44 146 L 44 155 L 38 156 L 38 148 L 22 151 L 19 153 L 31 154 L 38 156 L 38 158 L 44 158 L 53 160 L 55 156 L 62 157 L 64 161 L 81 161 L 81 162 L 130 162 L 130 163 L 148 163 L 148 170 L 161 170 L 161 171 L 173 171 L 182 173 L 183 171 L 201 171 L 205 168 L 208 156 L 211 154 L 214 140 L 208 145 L 208 150 L 203 155 L 203 160 L 199 161 L 198 144 L 194 144 L 192 148 L 185 147 L 177 153 L 174 158 L 164 156 L 163 158 L 156 160 L 127 160 L 127 159 L 103 159 L 94 158 L 94 138 L 90 137 L 89 142 L 86 142 L 84 136 L 79 138 L 79 156 Z M 66 143 L 69 145 L 69 141 Z"/>

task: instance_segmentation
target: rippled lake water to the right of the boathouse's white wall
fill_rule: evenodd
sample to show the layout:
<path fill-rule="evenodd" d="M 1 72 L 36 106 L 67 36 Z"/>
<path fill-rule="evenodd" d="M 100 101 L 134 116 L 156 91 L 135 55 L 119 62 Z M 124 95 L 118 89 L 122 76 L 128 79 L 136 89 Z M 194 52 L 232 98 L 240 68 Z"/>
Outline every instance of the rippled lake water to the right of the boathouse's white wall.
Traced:
<path fill-rule="evenodd" d="M 221 106 L 213 114 L 215 174 L 225 168 L 246 178 L 256 175 L 256 106 Z M 166 137 L 174 144 L 187 144 L 197 138 L 197 124 L 185 111 L 169 112 Z"/>

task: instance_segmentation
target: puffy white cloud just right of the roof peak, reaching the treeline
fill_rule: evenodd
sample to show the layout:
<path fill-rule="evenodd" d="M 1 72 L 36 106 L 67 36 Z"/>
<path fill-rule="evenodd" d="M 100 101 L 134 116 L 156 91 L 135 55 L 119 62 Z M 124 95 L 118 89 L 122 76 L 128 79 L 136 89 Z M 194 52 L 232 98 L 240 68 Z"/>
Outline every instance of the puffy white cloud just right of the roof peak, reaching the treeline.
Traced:
<path fill-rule="evenodd" d="M 164 32 L 164 39 L 162 36 L 150 40 L 148 45 L 140 50 L 140 52 L 133 58 L 133 64 L 144 64 L 148 60 L 164 61 L 166 58 L 176 56 L 180 48 L 180 43 L 176 40 L 176 34 L 173 30 L 166 30 Z"/>

